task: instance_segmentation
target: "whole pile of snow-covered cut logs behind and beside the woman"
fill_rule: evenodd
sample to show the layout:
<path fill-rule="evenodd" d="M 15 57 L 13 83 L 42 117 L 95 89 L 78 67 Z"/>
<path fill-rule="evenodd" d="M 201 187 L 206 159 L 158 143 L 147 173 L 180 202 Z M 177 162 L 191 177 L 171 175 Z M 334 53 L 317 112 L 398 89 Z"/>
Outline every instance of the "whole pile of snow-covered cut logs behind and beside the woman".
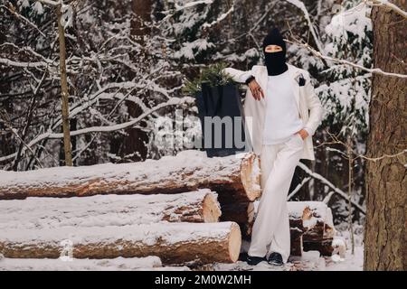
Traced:
<path fill-rule="evenodd" d="M 186 151 L 144 163 L 0 174 L 0 254 L 10 266 L 9 258 L 56 259 L 66 250 L 90 259 L 78 263 L 83 268 L 93 259 L 147 256 L 176 266 L 233 263 L 260 197 L 254 154 Z M 289 202 L 293 255 L 332 238 L 324 206 Z"/>

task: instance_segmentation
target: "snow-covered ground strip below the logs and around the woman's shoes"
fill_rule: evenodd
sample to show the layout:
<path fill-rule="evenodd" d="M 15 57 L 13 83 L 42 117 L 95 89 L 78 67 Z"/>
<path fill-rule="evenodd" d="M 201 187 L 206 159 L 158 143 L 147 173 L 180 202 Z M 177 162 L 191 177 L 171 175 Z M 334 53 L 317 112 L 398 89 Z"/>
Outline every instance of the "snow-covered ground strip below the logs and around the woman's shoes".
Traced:
<path fill-rule="evenodd" d="M 214 271 L 361 271 L 363 269 L 363 236 L 361 226 L 355 226 L 355 255 L 351 253 L 349 232 L 338 230 L 337 237 L 342 238 L 347 246 L 345 258 L 339 256 L 324 257 L 317 251 L 304 252 L 301 257 L 290 257 L 284 266 L 270 266 L 261 262 L 257 266 L 249 266 L 244 261 L 234 264 L 213 264 L 195 269 Z M 110 260 L 74 259 L 10 259 L 0 257 L 2 270 L 148 270 L 148 271 L 185 271 L 187 266 L 162 266 L 159 258 L 147 257 L 116 258 Z"/>

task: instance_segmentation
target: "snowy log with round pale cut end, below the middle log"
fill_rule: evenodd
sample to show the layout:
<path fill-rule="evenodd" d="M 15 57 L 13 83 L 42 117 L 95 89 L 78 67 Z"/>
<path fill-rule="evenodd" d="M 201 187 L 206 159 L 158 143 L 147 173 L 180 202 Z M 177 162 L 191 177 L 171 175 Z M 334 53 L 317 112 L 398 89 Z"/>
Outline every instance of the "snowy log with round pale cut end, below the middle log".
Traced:
<path fill-rule="evenodd" d="M 163 264 L 206 264 L 235 262 L 240 249 L 234 222 L 5 229 L 0 235 L 0 254 L 10 258 L 159 256 Z"/>

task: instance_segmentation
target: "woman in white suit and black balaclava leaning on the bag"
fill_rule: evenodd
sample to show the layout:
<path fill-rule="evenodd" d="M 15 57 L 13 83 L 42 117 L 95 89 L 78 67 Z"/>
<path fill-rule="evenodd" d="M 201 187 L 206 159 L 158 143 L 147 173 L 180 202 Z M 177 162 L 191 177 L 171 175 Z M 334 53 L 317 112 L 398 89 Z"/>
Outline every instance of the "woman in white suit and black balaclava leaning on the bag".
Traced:
<path fill-rule="evenodd" d="M 244 114 L 254 153 L 260 155 L 261 198 L 247 262 L 283 265 L 289 258 L 287 195 L 300 159 L 315 160 L 312 135 L 323 108 L 309 73 L 286 63 L 286 45 L 277 28 L 263 42 L 265 66 L 225 69 L 247 91 Z"/>

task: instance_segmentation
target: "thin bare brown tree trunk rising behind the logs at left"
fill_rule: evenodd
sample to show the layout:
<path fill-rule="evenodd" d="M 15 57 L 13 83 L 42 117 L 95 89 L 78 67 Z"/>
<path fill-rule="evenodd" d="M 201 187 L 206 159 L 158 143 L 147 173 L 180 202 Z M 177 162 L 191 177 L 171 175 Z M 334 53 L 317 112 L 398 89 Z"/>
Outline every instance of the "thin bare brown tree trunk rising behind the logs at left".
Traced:
<path fill-rule="evenodd" d="M 62 12 L 61 5 L 56 7 L 58 20 L 58 36 L 60 40 L 60 71 L 61 71 L 61 96 L 62 96 L 62 130 L 63 130 L 63 150 L 65 153 L 65 165 L 72 166 L 71 152 L 71 133 L 70 133 L 70 117 L 68 105 L 68 80 L 66 75 L 65 63 L 65 32 L 61 23 Z"/>

